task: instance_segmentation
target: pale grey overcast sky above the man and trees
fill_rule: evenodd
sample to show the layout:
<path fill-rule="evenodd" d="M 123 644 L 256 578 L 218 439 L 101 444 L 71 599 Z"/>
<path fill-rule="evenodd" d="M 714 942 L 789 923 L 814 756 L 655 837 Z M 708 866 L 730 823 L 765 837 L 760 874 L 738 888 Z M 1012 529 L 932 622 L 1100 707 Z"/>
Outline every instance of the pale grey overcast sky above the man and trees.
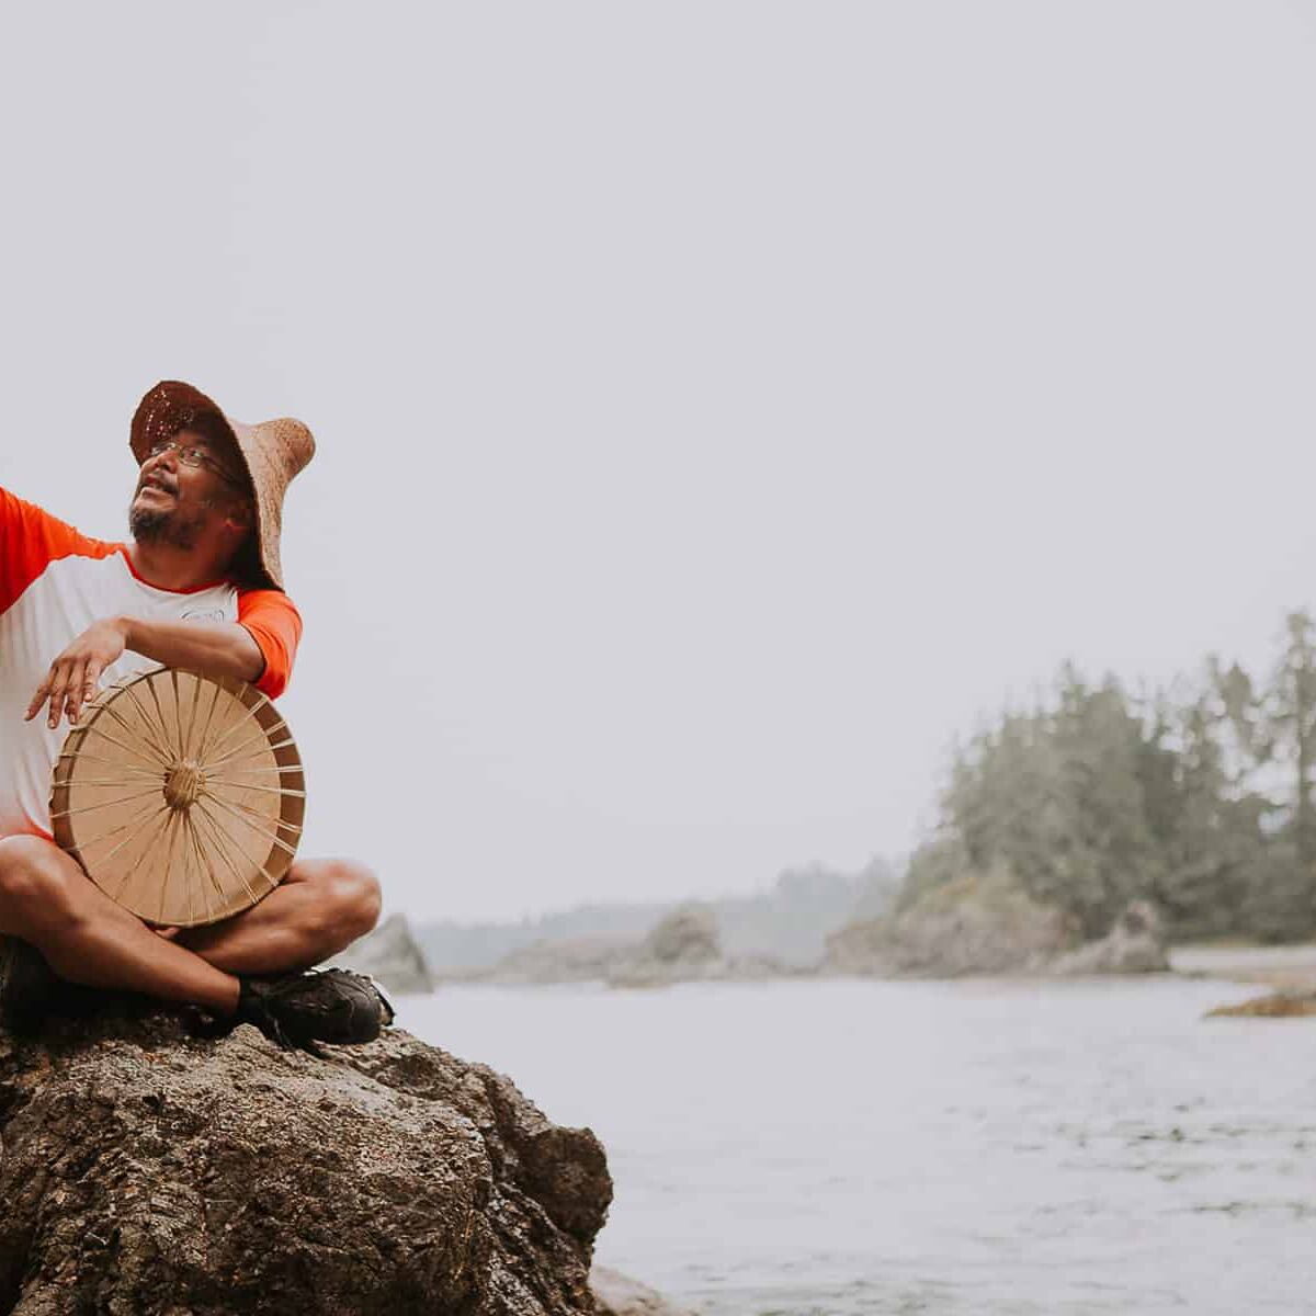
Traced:
<path fill-rule="evenodd" d="M 1312 604 L 1316 5 L 25 5 L 0 112 L 0 482 L 312 426 L 304 853 L 392 909 L 858 867 Z"/>

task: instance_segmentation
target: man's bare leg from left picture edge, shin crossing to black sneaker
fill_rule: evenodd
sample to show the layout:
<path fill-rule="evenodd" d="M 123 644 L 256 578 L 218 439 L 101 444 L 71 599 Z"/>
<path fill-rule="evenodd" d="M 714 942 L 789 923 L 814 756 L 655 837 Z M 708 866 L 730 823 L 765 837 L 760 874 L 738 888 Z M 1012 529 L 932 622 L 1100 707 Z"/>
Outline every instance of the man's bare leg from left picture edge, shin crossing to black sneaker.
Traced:
<path fill-rule="evenodd" d="M 158 937 L 41 837 L 0 840 L 0 933 L 36 946 L 68 982 L 192 1001 L 220 1015 L 237 1009 L 237 978 Z"/>

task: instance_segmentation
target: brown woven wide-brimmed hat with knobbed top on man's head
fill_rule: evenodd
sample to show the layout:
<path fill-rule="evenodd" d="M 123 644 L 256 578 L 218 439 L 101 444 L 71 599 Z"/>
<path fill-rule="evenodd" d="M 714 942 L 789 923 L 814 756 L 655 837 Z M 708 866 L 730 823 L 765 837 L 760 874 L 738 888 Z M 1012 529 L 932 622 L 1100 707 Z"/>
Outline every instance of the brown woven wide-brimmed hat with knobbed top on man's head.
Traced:
<path fill-rule="evenodd" d="M 216 416 L 233 436 L 255 491 L 257 545 L 261 566 L 270 580 L 283 588 L 279 561 L 279 533 L 283 529 L 283 495 L 292 476 L 316 455 L 316 441 L 300 420 L 267 420 L 242 425 L 230 420 L 199 388 L 176 379 L 158 383 L 138 404 L 128 442 L 141 465 L 151 446 L 172 438 L 200 416 Z"/>

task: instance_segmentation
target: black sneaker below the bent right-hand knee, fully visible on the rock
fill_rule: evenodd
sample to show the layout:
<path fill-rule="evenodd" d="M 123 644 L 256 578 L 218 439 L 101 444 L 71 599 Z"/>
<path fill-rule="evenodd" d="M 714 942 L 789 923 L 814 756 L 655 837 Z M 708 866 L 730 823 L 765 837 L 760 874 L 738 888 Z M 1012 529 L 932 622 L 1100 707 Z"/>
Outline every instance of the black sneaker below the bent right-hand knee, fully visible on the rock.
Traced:
<path fill-rule="evenodd" d="M 238 980 L 242 988 L 234 1021 L 255 1024 L 284 1048 L 372 1042 L 393 1021 L 393 1007 L 374 979 L 346 969 Z"/>

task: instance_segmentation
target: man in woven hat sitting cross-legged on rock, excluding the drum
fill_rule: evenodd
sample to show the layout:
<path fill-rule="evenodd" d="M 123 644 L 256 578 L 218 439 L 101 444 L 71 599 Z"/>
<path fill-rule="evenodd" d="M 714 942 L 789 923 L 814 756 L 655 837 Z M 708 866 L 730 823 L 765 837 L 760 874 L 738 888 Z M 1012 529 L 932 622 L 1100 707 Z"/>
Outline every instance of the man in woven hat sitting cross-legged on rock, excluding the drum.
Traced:
<path fill-rule="evenodd" d="M 374 928 L 379 883 L 362 865 L 297 859 L 243 913 L 153 930 L 53 841 L 61 721 L 76 722 L 101 682 L 180 667 L 272 699 L 301 634 L 279 528 L 311 432 L 237 425 L 190 384 L 161 383 L 129 442 L 141 470 L 128 544 L 91 540 L 0 488 L 0 1017 L 30 1028 L 58 975 L 188 1003 L 221 1029 L 253 1023 L 283 1045 L 370 1041 L 392 1020 L 374 984 L 308 971 Z"/>

